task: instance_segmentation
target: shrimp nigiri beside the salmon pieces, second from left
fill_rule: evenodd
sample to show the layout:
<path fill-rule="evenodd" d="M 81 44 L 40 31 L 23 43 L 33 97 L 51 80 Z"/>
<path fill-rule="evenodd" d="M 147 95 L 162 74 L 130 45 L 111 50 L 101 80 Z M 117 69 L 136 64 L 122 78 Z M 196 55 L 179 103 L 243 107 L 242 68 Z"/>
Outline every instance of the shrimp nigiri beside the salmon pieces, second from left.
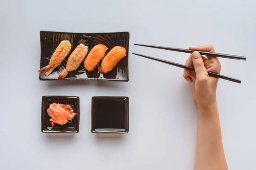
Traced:
<path fill-rule="evenodd" d="M 69 71 L 76 70 L 81 62 L 84 60 L 88 52 L 88 47 L 83 45 L 82 43 L 76 47 L 76 49 L 72 52 L 70 57 L 67 60 L 66 68 L 61 72 L 58 79 L 62 80 L 67 76 Z"/>

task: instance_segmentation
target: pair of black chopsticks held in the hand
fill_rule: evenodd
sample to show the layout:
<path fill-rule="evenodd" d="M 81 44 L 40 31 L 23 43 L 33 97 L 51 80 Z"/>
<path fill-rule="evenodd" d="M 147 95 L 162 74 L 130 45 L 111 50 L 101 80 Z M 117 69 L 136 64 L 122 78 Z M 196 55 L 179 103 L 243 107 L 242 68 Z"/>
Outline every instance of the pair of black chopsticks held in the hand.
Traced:
<path fill-rule="evenodd" d="M 178 51 L 178 52 L 183 52 L 183 53 L 193 53 L 194 50 L 188 50 L 188 49 L 182 49 L 182 48 L 172 48 L 172 47 L 160 47 L 160 46 L 154 46 L 154 45 L 142 45 L 142 44 L 134 44 L 134 45 L 139 45 L 139 46 L 144 46 L 144 47 L 150 47 L 150 48 L 158 48 L 158 49 L 163 49 L 163 50 L 170 50 L 170 51 Z M 221 54 L 221 53 L 211 53 L 211 52 L 205 52 L 205 51 L 198 51 L 201 55 L 207 55 L 207 56 L 212 56 L 212 57 L 222 57 L 222 58 L 228 58 L 228 59 L 239 59 L 239 60 L 246 60 L 246 57 L 244 56 L 236 56 L 236 55 L 230 55 L 230 54 Z M 136 53 L 132 53 L 135 54 L 137 56 L 141 56 L 141 57 L 145 57 L 148 59 L 153 59 L 155 61 L 158 62 L 163 62 L 169 65 L 174 65 L 176 67 L 180 67 L 180 68 L 184 68 L 187 70 L 192 70 L 195 71 L 195 68 L 190 67 L 190 66 L 186 66 L 186 65 L 182 65 L 182 64 L 178 64 L 175 62 L 170 62 L 170 61 L 166 61 L 163 59 L 157 59 L 154 57 L 149 57 L 149 56 L 145 56 L 145 55 L 141 55 L 141 54 L 136 54 Z M 236 82 L 236 83 L 241 83 L 241 80 L 239 79 L 235 79 L 232 77 L 227 77 L 227 76 L 223 76 L 221 74 L 216 74 L 216 73 L 212 73 L 212 72 L 208 72 L 208 75 L 211 77 L 218 77 L 220 79 L 225 79 L 225 80 L 229 80 L 231 82 Z"/>

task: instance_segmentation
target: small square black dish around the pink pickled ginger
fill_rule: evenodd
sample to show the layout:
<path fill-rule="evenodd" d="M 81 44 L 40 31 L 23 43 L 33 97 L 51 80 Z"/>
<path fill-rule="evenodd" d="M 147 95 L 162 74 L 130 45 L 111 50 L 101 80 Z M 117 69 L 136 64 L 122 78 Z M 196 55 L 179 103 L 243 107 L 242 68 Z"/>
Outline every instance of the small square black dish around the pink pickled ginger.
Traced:
<path fill-rule="evenodd" d="M 49 119 L 51 118 L 47 109 L 52 103 L 69 104 L 76 116 L 69 123 L 59 125 L 55 123 L 52 127 Z M 41 131 L 43 133 L 78 133 L 79 132 L 79 96 L 42 96 L 42 115 L 41 115 Z"/>

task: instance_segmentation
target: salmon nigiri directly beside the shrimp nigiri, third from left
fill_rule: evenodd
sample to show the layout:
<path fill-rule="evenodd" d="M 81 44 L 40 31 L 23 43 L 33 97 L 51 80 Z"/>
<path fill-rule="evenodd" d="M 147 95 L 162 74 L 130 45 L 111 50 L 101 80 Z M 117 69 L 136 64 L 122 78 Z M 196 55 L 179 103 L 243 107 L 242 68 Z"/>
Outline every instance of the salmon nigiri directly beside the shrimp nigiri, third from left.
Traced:
<path fill-rule="evenodd" d="M 88 71 L 93 71 L 99 61 L 105 56 L 107 50 L 108 48 L 103 44 L 95 45 L 84 60 L 84 68 Z"/>

